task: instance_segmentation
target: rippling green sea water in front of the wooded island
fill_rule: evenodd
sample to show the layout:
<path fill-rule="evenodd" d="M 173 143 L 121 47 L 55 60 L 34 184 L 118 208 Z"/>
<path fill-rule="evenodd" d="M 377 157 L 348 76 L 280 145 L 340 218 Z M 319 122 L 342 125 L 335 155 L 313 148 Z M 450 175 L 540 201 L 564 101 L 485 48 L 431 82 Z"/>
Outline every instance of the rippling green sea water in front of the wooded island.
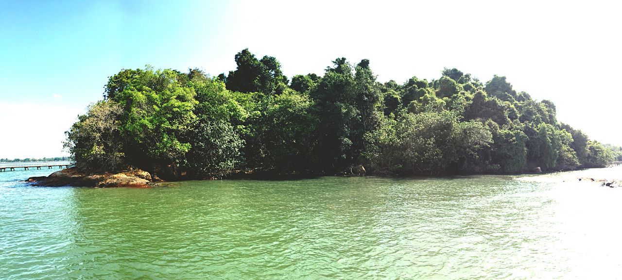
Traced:
<path fill-rule="evenodd" d="M 622 279 L 622 188 L 575 182 L 620 171 L 150 189 L 0 173 L 0 279 Z"/>

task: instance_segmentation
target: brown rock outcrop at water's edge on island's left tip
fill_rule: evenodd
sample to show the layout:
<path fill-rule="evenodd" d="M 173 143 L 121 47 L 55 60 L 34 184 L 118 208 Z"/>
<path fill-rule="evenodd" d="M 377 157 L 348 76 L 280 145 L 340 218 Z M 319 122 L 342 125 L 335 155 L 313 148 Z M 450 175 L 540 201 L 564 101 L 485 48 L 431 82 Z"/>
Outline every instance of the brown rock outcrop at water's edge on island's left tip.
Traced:
<path fill-rule="evenodd" d="M 25 180 L 34 186 L 45 187 L 151 187 L 157 185 L 147 171 L 131 169 L 119 173 L 84 174 L 77 168 L 67 168 L 50 176 L 30 177 Z"/>

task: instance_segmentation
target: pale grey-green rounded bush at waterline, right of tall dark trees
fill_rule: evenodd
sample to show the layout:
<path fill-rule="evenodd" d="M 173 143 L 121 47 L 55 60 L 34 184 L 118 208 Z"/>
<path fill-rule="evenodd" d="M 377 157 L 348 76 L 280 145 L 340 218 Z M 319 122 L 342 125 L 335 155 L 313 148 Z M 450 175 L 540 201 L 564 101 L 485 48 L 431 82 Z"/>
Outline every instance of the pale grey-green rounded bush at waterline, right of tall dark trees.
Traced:
<path fill-rule="evenodd" d="M 488 127 L 459 122 L 453 112 L 406 113 L 380 138 L 376 166 L 386 173 L 442 174 L 481 171 L 481 158 L 492 143 Z"/>

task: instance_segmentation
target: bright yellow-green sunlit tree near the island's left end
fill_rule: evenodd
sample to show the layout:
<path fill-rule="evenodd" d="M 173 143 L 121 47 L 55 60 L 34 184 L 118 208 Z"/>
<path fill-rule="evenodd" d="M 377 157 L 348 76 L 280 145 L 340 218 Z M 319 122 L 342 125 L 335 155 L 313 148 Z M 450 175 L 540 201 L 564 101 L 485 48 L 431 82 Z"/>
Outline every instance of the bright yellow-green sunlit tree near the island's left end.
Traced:
<path fill-rule="evenodd" d="M 151 68 L 136 70 L 131 76 L 121 73 L 126 84 L 123 90 L 108 94 L 108 100 L 123 107 L 119 130 L 128 147 L 126 155 L 163 164 L 183 162 L 190 143 L 182 137 L 197 120 L 193 110 L 198 104 L 194 89 L 180 83 L 186 76 Z"/>

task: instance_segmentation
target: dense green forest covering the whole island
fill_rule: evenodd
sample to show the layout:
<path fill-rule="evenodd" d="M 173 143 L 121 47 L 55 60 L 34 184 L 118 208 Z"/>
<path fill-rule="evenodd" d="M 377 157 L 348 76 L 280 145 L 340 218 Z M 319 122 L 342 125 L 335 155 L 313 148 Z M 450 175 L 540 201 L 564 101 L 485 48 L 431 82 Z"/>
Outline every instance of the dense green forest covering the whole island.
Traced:
<path fill-rule="evenodd" d="M 337 58 L 323 75 L 289 80 L 272 56 L 246 49 L 235 61 L 217 77 L 121 70 L 65 146 L 85 171 L 199 177 L 335 174 L 358 164 L 396 175 L 521 173 L 603 167 L 614 156 L 504 76 L 483 83 L 453 68 L 430 81 L 379 83 L 368 60 Z"/>

